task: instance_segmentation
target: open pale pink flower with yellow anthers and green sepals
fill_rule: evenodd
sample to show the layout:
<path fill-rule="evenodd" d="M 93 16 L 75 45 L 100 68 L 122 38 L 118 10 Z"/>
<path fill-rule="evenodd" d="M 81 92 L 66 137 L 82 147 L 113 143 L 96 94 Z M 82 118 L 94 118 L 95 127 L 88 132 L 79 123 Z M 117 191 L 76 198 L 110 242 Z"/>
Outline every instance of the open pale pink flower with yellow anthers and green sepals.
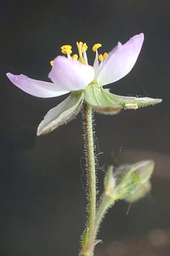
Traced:
<path fill-rule="evenodd" d="M 104 85 L 111 84 L 126 76 L 137 61 L 143 44 L 144 35 L 135 35 L 130 40 L 117 46 L 109 53 L 98 54 L 100 43 L 95 44 L 92 50 L 96 52 L 93 67 L 88 64 L 87 44 L 77 42 L 78 55 L 71 56 L 71 46 L 61 47 L 65 56 L 57 56 L 50 61 L 52 69 L 49 78 L 52 82 L 31 79 L 25 75 L 7 73 L 8 79 L 33 96 L 48 98 L 71 93 L 69 97 L 49 110 L 41 121 L 37 135 L 46 134 L 58 126 L 73 119 L 79 112 L 84 100 L 103 114 L 116 114 L 124 109 L 137 109 L 140 106 L 153 105 L 161 102 L 160 99 L 117 96 L 103 89 Z"/>

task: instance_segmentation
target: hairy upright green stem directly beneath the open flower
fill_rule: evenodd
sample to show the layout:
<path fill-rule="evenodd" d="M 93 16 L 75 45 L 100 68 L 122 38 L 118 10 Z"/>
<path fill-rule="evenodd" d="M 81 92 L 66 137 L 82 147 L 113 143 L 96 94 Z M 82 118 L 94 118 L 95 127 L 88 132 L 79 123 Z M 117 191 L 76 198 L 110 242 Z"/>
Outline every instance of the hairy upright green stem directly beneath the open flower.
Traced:
<path fill-rule="evenodd" d="M 88 217 L 87 217 L 87 241 L 82 249 L 83 256 L 94 255 L 95 219 L 96 219 L 96 170 L 94 152 L 94 131 L 92 120 L 92 108 L 87 102 L 83 103 L 84 119 L 84 144 L 86 152 L 87 185 L 88 185 Z"/>

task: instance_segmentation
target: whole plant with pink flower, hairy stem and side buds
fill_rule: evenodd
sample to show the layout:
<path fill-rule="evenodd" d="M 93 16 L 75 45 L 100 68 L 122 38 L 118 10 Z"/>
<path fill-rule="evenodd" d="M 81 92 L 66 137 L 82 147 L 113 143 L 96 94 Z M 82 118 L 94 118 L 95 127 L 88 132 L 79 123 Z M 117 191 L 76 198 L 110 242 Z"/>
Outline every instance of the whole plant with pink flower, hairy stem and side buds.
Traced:
<path fill-rule="evenodd" d="M 159 98 L 118 96 L 103 87 L 120 80 L 131 71 L 141 51 L 143 39 L 143 34 L 135 35 L 127 43 L 118 42 L 112 51 L 103 54 L 98 53 L 101 44 L 96 43 L 92 47 L 92 51 L 95 52 L 93 65 L 88 64 L 86 43 L 76 43 L 79 56 L 71 56 L 71 46 L 62 46 L 61 51 L 67 57 L 57 56 L 50 61 L 52 69 L 48 76 L 52 82 L 7 73 L 13 84 L 36 97 L 58 97 L 70 93 L 64 101 L 45 115 L 37 128 L 37 135 L 53 131 L 82 111 L 88 207 L 86 226 L 81 237 L 81 256 L 94 255 L 95 246 L 101 241 L 97 239 L 100 223 L 107 210 L 117 200 L 134 203 L 151 190 L 150 177 L 154 170 L 154 162 L 145 160 L 117 168 L 109 166 L 104 179 L 104 192 L 99 200 L 96 196 L 94 112 L 113 115 L 122 109 L 136 110 L 162 101 Z"/>

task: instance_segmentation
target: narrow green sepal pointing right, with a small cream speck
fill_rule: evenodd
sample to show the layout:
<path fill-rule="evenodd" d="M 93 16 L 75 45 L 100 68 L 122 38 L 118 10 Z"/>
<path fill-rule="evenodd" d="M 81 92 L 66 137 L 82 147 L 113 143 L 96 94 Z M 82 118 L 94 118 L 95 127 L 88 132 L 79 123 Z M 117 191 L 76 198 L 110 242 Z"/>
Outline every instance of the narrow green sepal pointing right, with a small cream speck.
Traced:
<path fill-rule="evenodd" d="M 116 102 L 118 105 L 121 105 L 124 109 L 138 109 L 140 107 L 155 105 L 162 102 L 160 98 L 149 98 L 149 97 L 126 97 L 119 96 L 110 92 L 107 92 L 108 97 L 112 101 Z"/>

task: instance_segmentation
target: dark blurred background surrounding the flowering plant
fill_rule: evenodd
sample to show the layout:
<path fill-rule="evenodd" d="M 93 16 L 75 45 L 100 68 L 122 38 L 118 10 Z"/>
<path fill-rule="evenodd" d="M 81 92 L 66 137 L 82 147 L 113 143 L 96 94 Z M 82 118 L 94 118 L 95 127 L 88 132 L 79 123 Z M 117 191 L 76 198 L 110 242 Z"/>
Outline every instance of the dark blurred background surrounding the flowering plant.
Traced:
<path fill-rule="evenodd" d="M 157 106 L 95 115 L 97 153 L 104 152 L 99 154 L 100 192 L 106 164 L 156 162 L 150 195 L 131 205 L 129 214 L 124 202 L 109 211 L 99 234 L 105 244 L 98 251 L 112 241 L 146 237 L 155 229 L 168 232 L 169 12 L 168 0 L 1 1 L 1 255 L 78 255 L 86 220 L 81 115 L 37 138 L 37 125 L 65 96 L 30 96 L 5 75 L 23 73 L 48 81 L 49 61 L 61 54 L 60 46 L 77 40 L 89 48 L 101 42 L 103 51 L 110 51 L 118 40 L 125 43 L 144 32 L 133 70 L 107 87 L 124 96 L 163 98 Z M 94 54 L 87 53 L 92 63 Z"/>

